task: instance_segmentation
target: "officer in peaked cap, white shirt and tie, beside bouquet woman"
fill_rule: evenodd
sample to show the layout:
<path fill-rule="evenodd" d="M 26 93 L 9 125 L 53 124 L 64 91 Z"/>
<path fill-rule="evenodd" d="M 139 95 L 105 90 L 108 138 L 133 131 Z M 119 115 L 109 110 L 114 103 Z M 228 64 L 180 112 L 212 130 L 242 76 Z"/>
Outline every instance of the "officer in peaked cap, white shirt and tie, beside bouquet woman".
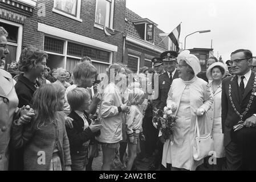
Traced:
<path fill-rule="evenodd" d="M 162 60 L 162 65 L 164 67 L 165 73 L 159 76 L 159 97 L 153 101 L 153 107 L 156 109 L 164 110 L 166 106 L 166 100 L 168 97 L 168 92 L 172 81 L 178 78 L 178 72 L 176 71 L 178 53 L 175 51 L 165 51 L 161 53 L 160 58 Z M 163 141 L 159 141 L 157 144 L 158 154 L 156 155 L 155 162 L 149 166 L 151 170 L 157 169 L 161 165 L 162 161 L 162 147 Z M 168 166 L 170 168 L 170 166 Z M 166 170 L 164 166 L 161 165 L 160 170 Z"/>

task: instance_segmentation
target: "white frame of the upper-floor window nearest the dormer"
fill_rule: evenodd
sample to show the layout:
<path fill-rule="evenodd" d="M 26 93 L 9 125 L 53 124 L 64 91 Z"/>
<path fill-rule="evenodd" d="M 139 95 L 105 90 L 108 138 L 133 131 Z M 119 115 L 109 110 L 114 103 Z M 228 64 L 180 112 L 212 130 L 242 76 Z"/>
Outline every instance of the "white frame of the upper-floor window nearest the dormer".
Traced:
<path fill-rule="evenodd" d="M 99 0 L 96 0 L 96 7 L 95 7 L 95 16 L 94 16 L 94 27 L 96 28 L 99 28 L 101 30 L 104 30 L 104 26 L 108 27 L 108 28 L 111 28 L 113 29 L 113 18 L 114 18 L 114 5 L 115 5 L 115 0 L 111 0 L 111 2 L 109 0 L 104 0 L 105 2 L 109 2 L 111 7 L 110 7 L 110 12 L 108 13 L 108 16 L 107 16 L 107 12 L 106 12 L 106 15 L 105 15 L 105 25 L 103 24 L 99 24 L 99 23 L 96 23 L 96 15 L 97 15 L 97 5 L 98 5 L 98 1 Z M 107 19 L 109 19 L 109 22 L 107 23 Z"/>

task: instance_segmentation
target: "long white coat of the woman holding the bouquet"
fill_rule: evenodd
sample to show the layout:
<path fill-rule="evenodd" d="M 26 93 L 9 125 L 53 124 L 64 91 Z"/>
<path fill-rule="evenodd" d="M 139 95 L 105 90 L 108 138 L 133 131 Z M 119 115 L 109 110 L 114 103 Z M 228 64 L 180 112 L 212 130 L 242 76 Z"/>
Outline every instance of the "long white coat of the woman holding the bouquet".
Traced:
<path fill-rule="evenodd" d="M 174 115 L 176 115 L 178 112 L 181 96 L 184 92 L 185 87 L 186 84 L 184 83 L 184 81 L 181 80 L 181 78 L 173 80 L 172 85 L 170 86 L 166 104 L 168 106 L 172 102 L 174 102 L 177 105 L 177 109 L 174 112 Z M 174 128 L 173 131 L 173 144 L 171 144 L 169 139 L 166 140 L 164 143 L 162 153 L 162 165 L 166 166 L 167 157 L 170 156 L 171 159 L 168 160 L 171 160 L 173 167 L 195 170 L 197 166 L 202 164 L 202 160 L 195 161 L 193 159 L 195 123 L 197 118 L 200 128 L 200 134 L 204 134 L 205 114 L 202 116 L 197 116 L 194 111 L 198 108 L 203 108 L 205 109 L 205 111 L 208 111 L 210 105 L 212 105 L 213 96 L 210 92 L 210 88 L 207 82 L 198 77 L 194 77 L 191 80 L 189 85 L 189 93 L 191 113 L 190 123 L 184 123 L 182 121 L 177 122 L 177 126 Z M 187 126 L 186 124 L 189 126 Z M 186 127 L 189 127 L 189 129 L 187 129 Z M 183 131 L 186 131 L 186 133 L 184 133 Z M 186 156 L 184 157 L 183 155 Z"/>

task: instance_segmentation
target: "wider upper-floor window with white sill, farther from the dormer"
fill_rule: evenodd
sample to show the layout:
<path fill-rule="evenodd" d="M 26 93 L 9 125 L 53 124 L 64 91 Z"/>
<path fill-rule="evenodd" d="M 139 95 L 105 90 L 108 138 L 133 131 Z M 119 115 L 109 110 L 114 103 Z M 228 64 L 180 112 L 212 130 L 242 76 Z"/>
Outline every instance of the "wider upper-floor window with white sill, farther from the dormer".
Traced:
<path fill-rule="evenodd" d="M 54 9 L 52 11 L 82 22 L 80 8 L 81 0 L 54 0 Z"/>

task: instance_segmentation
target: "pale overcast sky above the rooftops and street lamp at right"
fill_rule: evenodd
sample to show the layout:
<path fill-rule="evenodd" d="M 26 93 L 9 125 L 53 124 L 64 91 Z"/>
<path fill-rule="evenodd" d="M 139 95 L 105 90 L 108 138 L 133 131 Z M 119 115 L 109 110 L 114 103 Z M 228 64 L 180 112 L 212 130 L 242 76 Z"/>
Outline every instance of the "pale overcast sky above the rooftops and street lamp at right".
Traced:
<path fill-rule="evenodd" d="M 182 22 L 182 48 L 186 35 L 210 30 L 188 36 L 186 49 L 211 48 L 213 40 L 214 56 L 224 61 L 241 48 L 256 56 L 255 0 L 126 0 L 126 7 L 168 34 Z"/>

